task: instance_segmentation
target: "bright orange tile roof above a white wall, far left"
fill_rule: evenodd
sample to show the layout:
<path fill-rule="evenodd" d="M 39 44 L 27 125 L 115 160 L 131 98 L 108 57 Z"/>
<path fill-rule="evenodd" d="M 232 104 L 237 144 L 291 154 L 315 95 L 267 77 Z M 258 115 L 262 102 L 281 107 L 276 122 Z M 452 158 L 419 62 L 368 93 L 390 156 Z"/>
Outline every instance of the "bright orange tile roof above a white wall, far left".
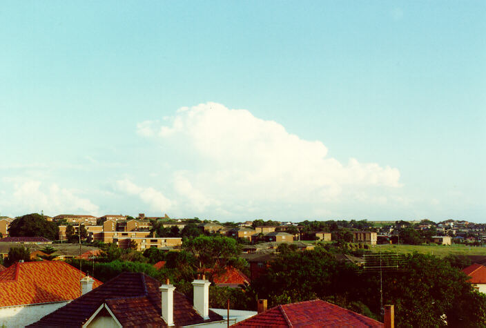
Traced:
<path fill-rule="evenodd" d="M 84 273 L 66 262 L 25 262 L 0 272 L 0 307 L 63 302 L 80 295 Z M 95 280 L 93 288 L 101 285 Z"/>

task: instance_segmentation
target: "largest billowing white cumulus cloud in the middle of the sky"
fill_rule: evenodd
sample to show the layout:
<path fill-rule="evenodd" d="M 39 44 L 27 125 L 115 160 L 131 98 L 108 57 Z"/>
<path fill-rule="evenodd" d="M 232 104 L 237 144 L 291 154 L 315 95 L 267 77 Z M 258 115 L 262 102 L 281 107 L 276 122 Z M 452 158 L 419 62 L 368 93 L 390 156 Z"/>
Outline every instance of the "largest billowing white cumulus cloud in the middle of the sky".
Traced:
<path fill-rule="evenodd" d="M 356 190 L 385 193 L 400 187 L 397 168 L 352 157 L 342 164 L 327 157 L 322 142 L 222 104 L 180 108 L 163 121 L 137 124 L 137 133 L 191 157 L 193 166 L 172 172 L 178 203 L 213 213 L 276 215 L 303 208 L 309 209 L 306 215 L 329 213 L 325 204 L 342 202 Z M 164 155 L 168 161 L 174 156 Z M 128 184 L 126 189 L 136 188 Z"/>

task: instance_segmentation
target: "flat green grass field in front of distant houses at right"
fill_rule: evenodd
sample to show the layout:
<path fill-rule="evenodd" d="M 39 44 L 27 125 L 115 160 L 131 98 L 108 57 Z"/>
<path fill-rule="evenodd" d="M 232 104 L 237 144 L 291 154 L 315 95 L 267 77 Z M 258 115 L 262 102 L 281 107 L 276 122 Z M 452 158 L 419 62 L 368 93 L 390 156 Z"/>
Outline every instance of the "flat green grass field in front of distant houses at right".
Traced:
<path fill-rule="evenodd" d="M 414 253 L 414 251 L 418 251 L 418 253 L 425 253 L 425 254 L 433 254 L 440 257 L 447 256 L 449 254 L 454 255 L 486 255 L 486 247 L 474 247 L 474 246 L 466 246 L 466 245 L 459 245 L 454 244 L 451 246 L 442 246 L 442 245 L 375 245 L 371 247 L 371 251 L 373 252 L 397 252 L 397 253 Z"/>

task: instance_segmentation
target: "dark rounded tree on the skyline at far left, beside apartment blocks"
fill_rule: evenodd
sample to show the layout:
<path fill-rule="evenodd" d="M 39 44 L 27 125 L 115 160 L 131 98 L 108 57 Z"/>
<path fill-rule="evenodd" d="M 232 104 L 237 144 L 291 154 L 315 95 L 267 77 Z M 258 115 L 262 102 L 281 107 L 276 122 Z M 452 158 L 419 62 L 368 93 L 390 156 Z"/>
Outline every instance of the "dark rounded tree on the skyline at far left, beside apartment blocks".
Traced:
<path fill-rule="evenodd" d="M 49 222 L 42 215 L 32 213 L 12 221 L 8 233 L 13 237 L 44 237 L 57 240 L 59 227 Z"/>

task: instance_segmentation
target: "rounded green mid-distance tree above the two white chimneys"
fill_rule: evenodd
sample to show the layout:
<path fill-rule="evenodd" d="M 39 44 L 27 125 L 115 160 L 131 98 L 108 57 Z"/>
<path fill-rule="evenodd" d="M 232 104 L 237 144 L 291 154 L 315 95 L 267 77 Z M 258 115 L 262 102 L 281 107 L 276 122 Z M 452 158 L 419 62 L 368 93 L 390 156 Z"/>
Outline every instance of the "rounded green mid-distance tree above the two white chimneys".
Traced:
<path fill-rule="evenodd" d="M 240 247 L 233 238 L 200 235 L 184 240 L 182 247 L 191 252 L 199 262 L 199 267 L 221 267 L 220 264 L 240 253 Z"/>

